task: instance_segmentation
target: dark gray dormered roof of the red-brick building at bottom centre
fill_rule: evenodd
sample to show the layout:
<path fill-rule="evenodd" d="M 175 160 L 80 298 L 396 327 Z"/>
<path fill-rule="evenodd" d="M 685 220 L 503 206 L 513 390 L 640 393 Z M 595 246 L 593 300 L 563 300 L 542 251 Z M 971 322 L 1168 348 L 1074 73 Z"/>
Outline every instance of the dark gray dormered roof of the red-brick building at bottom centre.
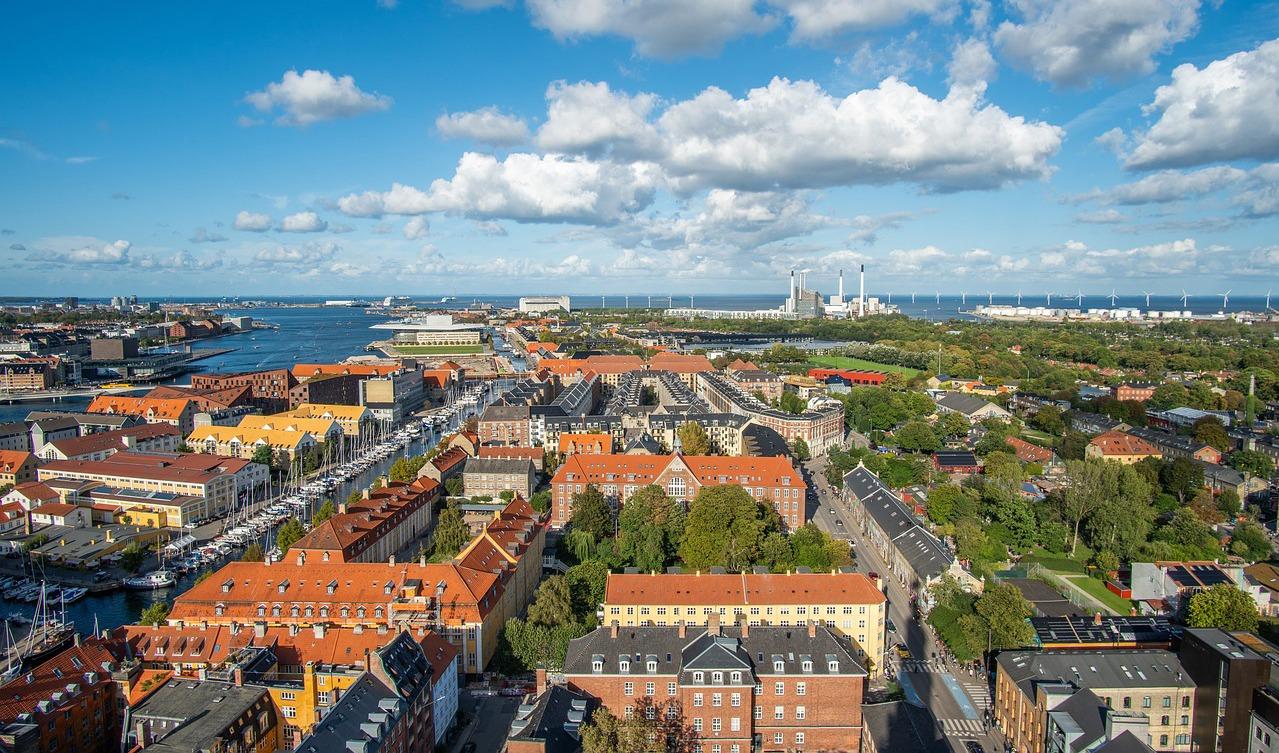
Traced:
<path fill-rule="evenodd" d="M 602 665 L 600 672 L 592 667 L 596 660 Z M 741 628 L 724 628 L 720 635 L 691 628 L 684 638 L 679 637 L 679 628 L 619 628 L 616 637 L 610 628 L 599 628 L 569 642 L 564 674 L 619 675 L 623 661 L 629 662 L 625 674 L 637 678 L 650 674 L 646 671 L 650 661 L 657 664 L 652 672 L 657 675 L 742 670 L 743 681 L 752 672 L 755 676 L 866 674 L 849 640 L 825 626 L 819 626 L 815 635 L 808 635 L 806 626 L 752 626 L 746 637 Z M 804 661 L 812 662 L 811 671 L 804 671 Z M 836 662 L 834 672 L 831 661 Z M 776 662 L 781 662 L 781 671 L 776 670 Z"/>

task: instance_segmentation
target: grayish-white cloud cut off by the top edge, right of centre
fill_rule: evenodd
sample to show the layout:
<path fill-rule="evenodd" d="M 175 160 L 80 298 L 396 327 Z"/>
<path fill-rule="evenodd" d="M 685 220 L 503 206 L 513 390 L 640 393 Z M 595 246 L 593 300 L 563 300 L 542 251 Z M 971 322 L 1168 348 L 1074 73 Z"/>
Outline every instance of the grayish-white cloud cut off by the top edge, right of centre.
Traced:
<path fill-rule="evenodd" d="M 1150 73 L 1154 58 L 1189 37 L 1198 0 L 1010 0 L 1024 19 L 995 29 L 1000 51 L 1060 87 Z"/>

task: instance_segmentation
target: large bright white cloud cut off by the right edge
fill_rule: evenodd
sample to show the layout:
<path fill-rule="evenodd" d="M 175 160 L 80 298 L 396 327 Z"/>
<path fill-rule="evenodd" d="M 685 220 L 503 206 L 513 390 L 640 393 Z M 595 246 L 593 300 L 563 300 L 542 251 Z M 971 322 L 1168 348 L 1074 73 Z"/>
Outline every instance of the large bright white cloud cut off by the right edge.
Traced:
<path fill-rule="evenodd" d="M 1124 165 L 1189 167 L 1225 160 L 1279 157 L 1279 40 L 1214 60 L 1186 63 L 1145 107 L 1159 119 L 1137 133 Z"/>

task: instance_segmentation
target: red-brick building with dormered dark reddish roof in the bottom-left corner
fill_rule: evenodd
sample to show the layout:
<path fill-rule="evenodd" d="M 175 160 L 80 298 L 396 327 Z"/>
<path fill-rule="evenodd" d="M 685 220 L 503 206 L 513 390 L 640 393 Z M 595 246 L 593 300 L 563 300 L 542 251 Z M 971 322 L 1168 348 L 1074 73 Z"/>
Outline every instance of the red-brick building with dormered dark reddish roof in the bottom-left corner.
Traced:
<path fill-rule="evenodd" d="M 111 678 L 118 653 L 101 638 L 77 640 L 0 685 L 0 739 L 40 753 L 115 753 L 123 721 L 122 688 Z"/>

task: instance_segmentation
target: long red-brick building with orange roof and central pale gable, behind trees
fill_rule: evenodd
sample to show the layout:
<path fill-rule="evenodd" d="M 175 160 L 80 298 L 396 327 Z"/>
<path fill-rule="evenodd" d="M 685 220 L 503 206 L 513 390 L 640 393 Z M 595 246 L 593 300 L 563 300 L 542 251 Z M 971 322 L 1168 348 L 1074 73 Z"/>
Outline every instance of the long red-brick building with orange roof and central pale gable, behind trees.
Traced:
<path fill-rule="evenodd" d="M 616 506 L 640 488 L 656 485 L 687 504 L 703 486 L 735 483 L 757 500 L 766 500 L 787 528 L 807 522 L 804 492 L 808 488 L 790 460 L 711 455 L 570 455 L 551 479 L 551 525 L 563 528 L 573 516 L 573 495 L 593 483 Z"/>

